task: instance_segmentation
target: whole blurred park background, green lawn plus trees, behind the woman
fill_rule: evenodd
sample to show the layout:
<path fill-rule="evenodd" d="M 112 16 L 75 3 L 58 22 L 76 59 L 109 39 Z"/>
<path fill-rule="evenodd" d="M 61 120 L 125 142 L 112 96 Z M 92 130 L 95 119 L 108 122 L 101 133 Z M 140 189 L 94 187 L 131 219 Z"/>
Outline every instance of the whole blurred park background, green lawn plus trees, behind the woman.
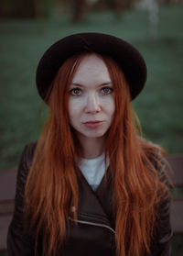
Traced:
<path fill-rule="evenodd" d="M 35 83 L 40 57 L 56 40 L 78 32 L 109 33 L 141 51 L 148 78 L 133 105 L 144 136 L 170 154 L 183 154 L 182 2 L 2 0 L 0 170 L 16 168 L 24 145 L 37 140 L 42 128 L 47 111 Z M 177 236 L 174 256 L 183 255 L 182 247 Z"/>

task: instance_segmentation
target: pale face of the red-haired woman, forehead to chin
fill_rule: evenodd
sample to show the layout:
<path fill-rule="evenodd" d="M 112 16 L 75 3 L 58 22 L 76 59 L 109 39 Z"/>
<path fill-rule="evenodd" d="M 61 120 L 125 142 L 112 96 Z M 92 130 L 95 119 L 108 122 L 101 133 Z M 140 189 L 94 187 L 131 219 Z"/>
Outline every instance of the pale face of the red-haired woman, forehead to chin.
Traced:
<path fill-rule="evenodd" d="M 86 55 L 70 84 L 70 125 L 79 139 L 101 138 L 110 128 L 114 113 L 113 84 L 105 63 Z"/>

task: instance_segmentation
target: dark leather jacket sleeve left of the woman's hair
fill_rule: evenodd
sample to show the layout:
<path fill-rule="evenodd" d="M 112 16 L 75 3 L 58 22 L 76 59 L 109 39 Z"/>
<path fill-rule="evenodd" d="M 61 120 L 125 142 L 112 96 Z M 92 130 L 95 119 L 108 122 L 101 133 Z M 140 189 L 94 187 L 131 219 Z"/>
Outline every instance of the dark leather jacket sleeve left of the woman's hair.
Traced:
<path fill-rule="evenodd" d="M 27 174 L 34 157 L 36 147 L 36 142 L 25 146 L 17 170 L 15 208 L 6 238 L 8 255 L 12 256 L 35 255 L 36 234 L 33 229 L 25 228 L 24 207 Z"/>

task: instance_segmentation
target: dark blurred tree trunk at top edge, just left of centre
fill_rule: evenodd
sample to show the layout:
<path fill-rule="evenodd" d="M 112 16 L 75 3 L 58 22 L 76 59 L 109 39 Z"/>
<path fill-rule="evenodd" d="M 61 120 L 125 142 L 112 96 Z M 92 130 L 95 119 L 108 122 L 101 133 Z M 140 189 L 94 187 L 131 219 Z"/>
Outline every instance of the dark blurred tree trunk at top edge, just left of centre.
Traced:
<path fill-rule="evenodd" d="M 72 21 L 80 22 L 86 13 L 86 0 L 71 0 Z"/>

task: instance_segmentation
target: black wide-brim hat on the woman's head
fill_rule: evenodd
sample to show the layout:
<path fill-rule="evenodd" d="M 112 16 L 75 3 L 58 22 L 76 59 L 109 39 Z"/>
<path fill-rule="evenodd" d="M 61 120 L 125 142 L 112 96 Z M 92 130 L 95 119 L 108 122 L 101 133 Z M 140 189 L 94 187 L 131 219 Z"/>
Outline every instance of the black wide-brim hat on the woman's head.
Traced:
<path fill-rule="evenodd" d="M 135 99 L 145 86 L 145 60 L 134 46 L 111 35 L 102 33 L 80 33 L 70 35 L 54 43 L 38 63 L 36 81 L 38 93 L 45 99 L 50 83 L 59 67 L 70 56 L 83 52 L 97 52 L 110 56 L 124 72 L 130 86 L 131 99 Z"/>

